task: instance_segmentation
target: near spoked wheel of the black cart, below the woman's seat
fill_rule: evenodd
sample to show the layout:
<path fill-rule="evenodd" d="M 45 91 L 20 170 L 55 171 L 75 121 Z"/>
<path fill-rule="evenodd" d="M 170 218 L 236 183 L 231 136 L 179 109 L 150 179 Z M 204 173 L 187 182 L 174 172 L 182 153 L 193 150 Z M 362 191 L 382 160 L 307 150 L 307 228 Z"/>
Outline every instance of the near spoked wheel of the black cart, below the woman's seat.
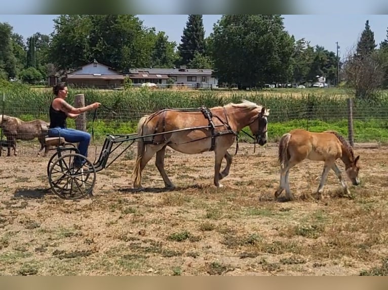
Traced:
<path fill-rule="evenodd" d="M 74 168 L 74 158 L 85 162 L 81 168 Z M 85 156 L 77 153 L 63 155 L 56 159 L 49 170 L 49 183 L 53 192 L 62 199 L 81 199 L 91 195 L 96 183 L 96 169 Z"/>

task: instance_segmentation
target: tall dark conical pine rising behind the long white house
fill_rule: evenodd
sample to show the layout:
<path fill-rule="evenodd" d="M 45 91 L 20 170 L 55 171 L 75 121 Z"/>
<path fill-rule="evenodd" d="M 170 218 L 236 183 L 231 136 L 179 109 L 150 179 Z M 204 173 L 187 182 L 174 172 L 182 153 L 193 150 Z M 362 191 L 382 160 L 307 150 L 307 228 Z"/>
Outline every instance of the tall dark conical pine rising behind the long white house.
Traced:
<path fill-rule="evenodd" d="M 194 59 L 196 52 L 203 54 L 205 50 L 205 29 L 202 15 L 190 14 L 183 29 L 178 52 L 181 57 L 180 64 L 188 65 Z"/>

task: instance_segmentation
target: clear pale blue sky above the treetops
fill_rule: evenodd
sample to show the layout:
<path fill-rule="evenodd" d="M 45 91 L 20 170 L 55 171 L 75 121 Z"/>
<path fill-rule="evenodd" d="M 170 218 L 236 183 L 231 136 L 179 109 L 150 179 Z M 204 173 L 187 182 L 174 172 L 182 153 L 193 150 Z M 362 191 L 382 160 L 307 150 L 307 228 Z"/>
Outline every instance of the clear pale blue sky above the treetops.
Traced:
<path fill-rule="evenodd" d="M 355 0 L 356 1 L 356 0 Z M 357 2 L 357 1 L 356 1 Z M 341 2 L 339 2 L 341 3 Z M 341 5 L 341 4 L 338 4 Z M 54 22 L 58 15 L 0 15 L 0 22 L 8 22 L 13 31 L 27 37 L 33 33 L 50 34 L 54 30 Z M 180 37 L 186 25 L 187 15 L 137 15 L 147 27 L 155 27 L 157 31 L 165 31 L 170 41 L 180 43 Z M 357 44 L 366 20 L 369 20 L 374 32 L 375 42 L 379 44 L 386 38 L 388 15 L 283 15 L 285 29 L 296 39 L 305 38 L 310 44 L 324 46 L 336 52 L 338 41 L 339 55 L 345 56 Z M 205 37 L 213 30 L 213 25 L 221 15 L 203 15 Z"/>

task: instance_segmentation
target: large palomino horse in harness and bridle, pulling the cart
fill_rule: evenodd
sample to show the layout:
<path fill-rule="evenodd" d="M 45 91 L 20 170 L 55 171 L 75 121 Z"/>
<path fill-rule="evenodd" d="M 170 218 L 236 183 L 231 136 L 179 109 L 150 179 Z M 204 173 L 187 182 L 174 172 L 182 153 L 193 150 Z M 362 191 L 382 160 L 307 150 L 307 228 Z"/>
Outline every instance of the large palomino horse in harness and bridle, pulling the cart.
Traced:
<path fill-rule="evenodd" d="M 229 174 L 232 162 L 227 152 L 235 137 L 244 127 L 249 126 L 255 142 L 263 146 L 267 141 L 267 116 L 269 109 L 243 100 L 240 104 L 227 104 L 223 107 L 194 109 L 164 109 L 144 116 L 138 124 L 137 159 L 133 171 L 134 188 L 141 189 L 141 172 L 157 153 L 156 166 L 166 188 L 172 189 L 164 170 L 166 147 L 185 154 L 199 154 L 214 151 L 214 185 L 222 187 L 219 180 Z M 222 159 L 225 169 L 220 172 Z"/>

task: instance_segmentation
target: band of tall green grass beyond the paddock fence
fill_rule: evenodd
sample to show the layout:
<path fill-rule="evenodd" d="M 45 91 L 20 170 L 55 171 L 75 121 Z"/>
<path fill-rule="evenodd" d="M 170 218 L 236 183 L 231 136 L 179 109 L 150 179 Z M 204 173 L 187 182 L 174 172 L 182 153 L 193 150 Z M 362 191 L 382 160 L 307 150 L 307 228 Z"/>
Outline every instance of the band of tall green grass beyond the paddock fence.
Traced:
<path fill-rule="evenodd" d="M 6 94 L 4 104 L 6 115 L 19 117 L 25 121 L 34 118 L 48 121 L 49 106 L 53 99 L 50 89 L 31 89 L 28 85 L 23 84 L 0 83 L 0 92 Z M 111 91 L 71 88 L 67 101 L 73 104 L 74 95 L 79 93 L 85 95 L 86 105 L 100 102 L 110 109 L 103 107 L 98 109 L 97 119 L 93 124 L 91 121 L 94 112 L 87 113 L 88 130 L 90 131 L 93 125 L 96 136 L 103 136 L 107 133 L 133 133 L 141 116 L 163 108 L 199 108 L 201 106 L 211 108 L 230 102 L 239 103 L 242 99 L 270 109 L 268 132 L 270 138 L 274 140 L 295 127 L 304 127 L 312 131 L 336 128 L 344 134 L 347 132 L 346 98 L 338 91 L 327 89 L 305 90 L 304 92 L 296 89 L 232 90 L 225 93 L 221 90 L 184 91 L 135 88 Z M 385 91 L 380 93 L 378 102 L 355 101 L 353 113 L 356 139 L 367 141 L 383 138 L 385 140 L 384 132 L 388 128 L 388 94 Z M 69 126 L 73 125 L 72 122 L 73 120 L 69 120 Z"/>

